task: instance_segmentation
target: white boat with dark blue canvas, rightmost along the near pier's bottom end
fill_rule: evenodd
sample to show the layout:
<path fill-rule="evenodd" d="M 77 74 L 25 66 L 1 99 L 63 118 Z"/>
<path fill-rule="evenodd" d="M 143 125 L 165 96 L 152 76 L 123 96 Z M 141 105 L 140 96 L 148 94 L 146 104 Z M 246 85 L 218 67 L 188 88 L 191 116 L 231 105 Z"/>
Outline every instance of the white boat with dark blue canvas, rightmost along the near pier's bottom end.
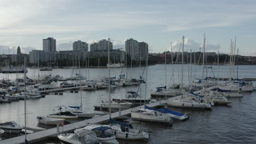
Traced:
<path fill-rule="evenodd" d="M 135 129 L 131 124 L 121 123 L 110 119 L 110 128 L 117 139 L 123 140 L 147 140 L 149 134 L 146 131 Z"/>

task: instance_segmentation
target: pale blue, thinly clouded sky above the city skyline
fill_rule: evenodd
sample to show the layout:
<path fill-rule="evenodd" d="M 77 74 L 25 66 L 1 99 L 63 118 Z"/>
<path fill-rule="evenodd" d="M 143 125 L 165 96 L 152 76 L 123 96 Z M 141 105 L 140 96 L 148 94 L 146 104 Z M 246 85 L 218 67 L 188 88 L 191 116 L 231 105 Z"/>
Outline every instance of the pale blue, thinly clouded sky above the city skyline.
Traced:
<path fill-rule="evenodd" d="M 125 50 L 126 39 L 144 41 L 149 52 L 230 51 L 236 37 L 240 55 L 256 56 L 256 1 L 13 1 L 0 0 L 0 53 L 42 50 L 43 39 L 56 39 L 57 51 L 72 50 L 73 41 L 89 45 L 110 38 Z"/>

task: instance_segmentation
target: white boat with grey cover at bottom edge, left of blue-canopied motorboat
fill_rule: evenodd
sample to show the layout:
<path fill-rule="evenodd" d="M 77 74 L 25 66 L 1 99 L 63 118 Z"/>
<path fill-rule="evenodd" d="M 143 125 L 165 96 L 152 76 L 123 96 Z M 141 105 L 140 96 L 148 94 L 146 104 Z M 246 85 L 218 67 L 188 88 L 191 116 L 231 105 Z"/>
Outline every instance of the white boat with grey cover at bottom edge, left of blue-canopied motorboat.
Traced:
<path fill-rule="evenodd" d="M 95 132 L 85 129 L 77 133 L 60 134 L 58 138 L 62 144 L 100 144 Z"/>

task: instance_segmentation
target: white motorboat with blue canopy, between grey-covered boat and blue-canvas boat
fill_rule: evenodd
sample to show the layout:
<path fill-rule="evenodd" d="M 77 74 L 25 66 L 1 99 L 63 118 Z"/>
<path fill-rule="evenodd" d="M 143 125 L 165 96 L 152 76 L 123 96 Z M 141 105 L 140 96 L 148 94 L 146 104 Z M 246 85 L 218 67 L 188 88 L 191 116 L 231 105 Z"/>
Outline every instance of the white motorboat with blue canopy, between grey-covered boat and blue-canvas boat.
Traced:
<path fill-rule="evenodd" d="M 113 131 L 110 127 L 107 127 L 105 125 L 100 124 L 92 124 L 88 125 L 81 129 L 75 129 L 74 132 L 77 133 L 80 130 L 91 130 L 96 133 L 96 136 L 98 140 L 100 140 L 101 143 L 107 143 L 107 144 L 118 144 L 119 142 L 115 139 L 115 135 L 113 134 Z"/>

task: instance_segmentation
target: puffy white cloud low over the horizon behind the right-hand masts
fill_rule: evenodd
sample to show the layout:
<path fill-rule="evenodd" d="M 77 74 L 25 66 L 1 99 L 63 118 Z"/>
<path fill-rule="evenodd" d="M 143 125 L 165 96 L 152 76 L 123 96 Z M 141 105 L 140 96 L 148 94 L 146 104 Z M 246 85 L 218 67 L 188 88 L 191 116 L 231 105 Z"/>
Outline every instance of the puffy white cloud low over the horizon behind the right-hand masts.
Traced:
<path fill-rule="evenodd" d="M 181 40 L 174 41 L 174 43 L 172 44 L 173 52 L 178 52 L 180 46 L 181 46 L 180 51 L 182 51 L 181 42 L 182 42 Z M 200 48 L 202 48 L 202 44 L 197 43 L 194 39 L 184 39 L 184 51 L 190 51 L 190 49 L 192 49 L 192 51 L 194 51 L 194 50 L 200 51 Z M 216 52 L 217 50 L 218 50 L 218 45 L 206 43 L 206 52 Z M 170 49 L 170 51 L 171 51 L 171 49 Z"/>

